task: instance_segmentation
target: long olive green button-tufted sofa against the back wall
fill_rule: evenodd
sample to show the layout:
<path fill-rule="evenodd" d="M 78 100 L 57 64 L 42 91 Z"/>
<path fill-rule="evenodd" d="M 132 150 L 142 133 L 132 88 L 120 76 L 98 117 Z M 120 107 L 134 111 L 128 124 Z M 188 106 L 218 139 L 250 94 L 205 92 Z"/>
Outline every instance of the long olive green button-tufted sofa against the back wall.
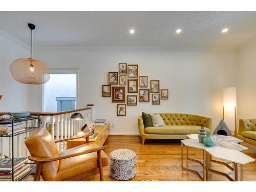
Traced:
<path fill-rule="evenodd" d="M 212 119 L 199 115 L 159 113 L 165 126 L 144 127 L 142 116 L 138 117 L 138 127 L 142 144 L 145 139 L 186 139 L 187 134 L 197 134 L 200 126 L 212 133 Z"/>

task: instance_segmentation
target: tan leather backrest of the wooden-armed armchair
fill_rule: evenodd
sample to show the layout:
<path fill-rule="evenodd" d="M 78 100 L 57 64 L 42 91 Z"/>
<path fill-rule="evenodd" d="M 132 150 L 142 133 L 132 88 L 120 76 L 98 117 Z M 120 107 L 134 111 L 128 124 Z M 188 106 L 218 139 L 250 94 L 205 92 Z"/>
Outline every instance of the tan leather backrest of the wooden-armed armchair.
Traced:
<path fill-rule="evenodd" d="M 32 157 L 53 157 L 59 155 L 52 135 L 44 128 L 35 129 L 25 140 L 25 144 Z M 58 167 L 59 161 L 43 163 L 41 170 L 42 178 L 55 177 Z"/>

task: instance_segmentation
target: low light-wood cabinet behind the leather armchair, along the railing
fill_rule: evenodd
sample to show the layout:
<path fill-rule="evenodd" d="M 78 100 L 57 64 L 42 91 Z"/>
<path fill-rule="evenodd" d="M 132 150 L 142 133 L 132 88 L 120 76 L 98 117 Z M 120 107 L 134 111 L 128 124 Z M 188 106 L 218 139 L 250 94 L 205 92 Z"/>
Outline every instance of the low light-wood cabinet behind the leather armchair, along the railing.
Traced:
<path fill-rule="evenodd" d="M 97 135 L 94 138 L 89 138 L 89 142 L 95 142 L 99 146 L 103 146 L 110 134 L 110 123 L 106 123 L 104 126 L 96 126 L 95 133 L 97 133 Z M 86 143 L 85 138 L 70 140 L 67 141 L 67 149 Z"/>

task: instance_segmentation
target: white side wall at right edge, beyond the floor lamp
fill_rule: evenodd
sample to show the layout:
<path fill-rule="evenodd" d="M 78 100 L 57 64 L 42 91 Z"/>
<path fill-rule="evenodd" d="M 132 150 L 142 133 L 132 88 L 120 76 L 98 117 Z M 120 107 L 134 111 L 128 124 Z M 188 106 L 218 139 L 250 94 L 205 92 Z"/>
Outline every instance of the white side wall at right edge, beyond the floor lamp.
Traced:
<path fill-rule="evenodd" d="M 239 47 L 238 119 L 256 118 L 256 38 Z"/>

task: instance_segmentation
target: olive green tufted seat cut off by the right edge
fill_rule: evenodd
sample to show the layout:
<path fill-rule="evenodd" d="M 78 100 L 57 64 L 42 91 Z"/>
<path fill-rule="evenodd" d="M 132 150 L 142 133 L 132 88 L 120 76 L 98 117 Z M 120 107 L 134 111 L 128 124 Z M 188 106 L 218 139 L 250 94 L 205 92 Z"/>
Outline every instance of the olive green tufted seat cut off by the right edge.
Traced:
<path fill-rule="evenodd" d="M 256 119 L 240 119 L 237 137 L 256 145 Z"/>

